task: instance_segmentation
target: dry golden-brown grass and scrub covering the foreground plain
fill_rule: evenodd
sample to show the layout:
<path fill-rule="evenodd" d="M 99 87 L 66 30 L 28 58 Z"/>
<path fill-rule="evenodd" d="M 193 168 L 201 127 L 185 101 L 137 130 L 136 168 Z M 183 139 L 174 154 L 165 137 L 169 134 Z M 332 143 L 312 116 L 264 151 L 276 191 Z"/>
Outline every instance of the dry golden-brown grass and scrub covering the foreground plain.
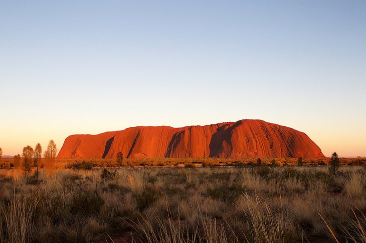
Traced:
<path fill-rule="evenodd" d="M 1 242 L 366 242 L 363 166 L 0 170 Z"/>

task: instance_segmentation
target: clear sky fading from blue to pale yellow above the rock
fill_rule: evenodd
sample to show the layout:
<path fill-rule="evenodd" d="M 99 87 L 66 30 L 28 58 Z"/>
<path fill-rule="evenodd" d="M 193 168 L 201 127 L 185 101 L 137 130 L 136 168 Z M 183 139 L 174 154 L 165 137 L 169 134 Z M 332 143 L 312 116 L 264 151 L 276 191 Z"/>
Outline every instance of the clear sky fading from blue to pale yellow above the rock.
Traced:
<path fill-rule="evenodd" d="M 4 155 L 71 134 L 263 119 L 366 156 L 366 1 L 0 3 Z"/>

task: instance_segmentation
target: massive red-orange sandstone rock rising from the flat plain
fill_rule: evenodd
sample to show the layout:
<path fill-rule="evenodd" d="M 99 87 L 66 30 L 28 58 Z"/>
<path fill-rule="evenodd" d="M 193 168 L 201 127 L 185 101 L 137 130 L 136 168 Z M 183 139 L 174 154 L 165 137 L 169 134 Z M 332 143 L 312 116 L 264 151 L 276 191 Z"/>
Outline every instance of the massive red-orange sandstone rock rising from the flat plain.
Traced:
<path fill-rule="evenodd" d="M 304 133 L 263 120 L 244 119 L 211 125 L 136 126 L 97 135 L 71 135 L 58 158 L 323 158 Z"/>

